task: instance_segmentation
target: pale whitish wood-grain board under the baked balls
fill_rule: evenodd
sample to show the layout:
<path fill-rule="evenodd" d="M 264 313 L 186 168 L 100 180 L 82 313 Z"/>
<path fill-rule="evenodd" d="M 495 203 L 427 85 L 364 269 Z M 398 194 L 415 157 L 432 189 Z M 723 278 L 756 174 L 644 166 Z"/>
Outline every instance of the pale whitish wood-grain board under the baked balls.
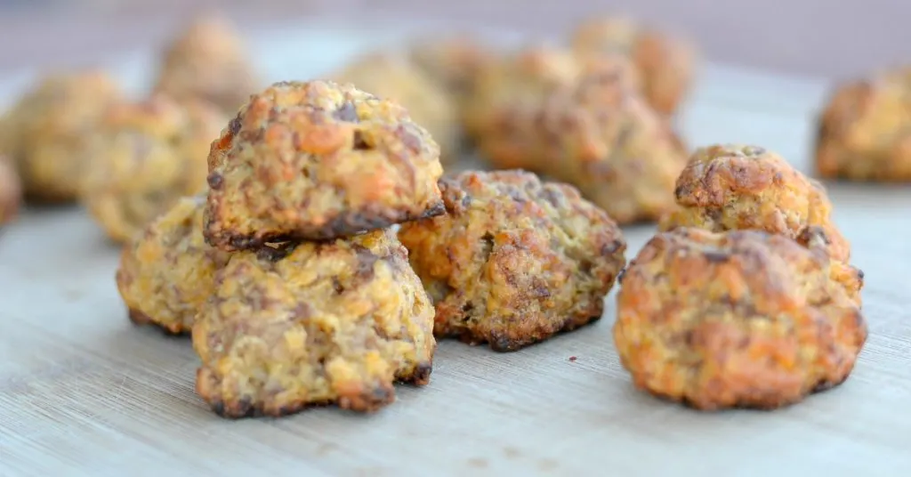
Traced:
<path fill-rule="evenodd" d="M 254 47 L 270 79 L 308 78 L 378 38 L 313 28 Z M 139 90 L 148 58 L 116 67 Z M 681 127 L 808 171 L 825 88 L 708 66 Z M 118 251 L 86 214 L 27 211 L 0 236 L 0 475 L 907 475 L 911 189 L 828 186 L 866 274 L 870 337 L 843 386 L 774 412 L 700 413 L 633 389 L 611 293 L 597 324 L 517 353 L 443 341 L 432 383 L 375 415 L 222 420 L 193 392 L 189 340 L 128 323 Z M 625 233 L 631 257 L 653 229 Z"/>

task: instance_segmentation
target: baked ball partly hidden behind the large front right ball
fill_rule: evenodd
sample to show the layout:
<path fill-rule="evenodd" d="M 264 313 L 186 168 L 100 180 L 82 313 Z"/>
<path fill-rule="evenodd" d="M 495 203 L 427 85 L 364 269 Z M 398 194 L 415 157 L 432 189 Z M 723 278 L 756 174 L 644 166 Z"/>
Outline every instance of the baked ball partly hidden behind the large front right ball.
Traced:
<path fill-rule="evenodd" d="M 660 230 L 763 230 L 798 239 L 818 227 L 835 260 L 850 258 L 824 186 L 770 150 L 736 144 L 696 150 L 674 193 L 680 207 L 661 220 Z"/>

